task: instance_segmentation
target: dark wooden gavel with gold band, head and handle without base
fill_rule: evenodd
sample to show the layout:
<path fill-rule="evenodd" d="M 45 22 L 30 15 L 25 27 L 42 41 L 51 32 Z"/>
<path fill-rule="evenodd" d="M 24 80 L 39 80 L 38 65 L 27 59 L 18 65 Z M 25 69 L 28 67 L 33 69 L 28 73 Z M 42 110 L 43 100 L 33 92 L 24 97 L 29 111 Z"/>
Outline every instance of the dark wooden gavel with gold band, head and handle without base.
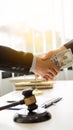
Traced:
<path fill-rule="evenodd" d="M 6 106 L 2 106 L 0 107 L 0 111 L 7 109 L 9 107 L 22 105 L 22 104 L 25 104 L 26 106 L 28 106 L 29 112 L 32 112 L 33 110 L 37 109 L 38 105 L 36 104 L 36 98 L 35 98 L 35 95 L 32 93 L 32 91 L 33 90 L 31 88 L 22 91 L 22 95 L 24 95 L 24 98 L 22 100 L 8 104 Z"/>

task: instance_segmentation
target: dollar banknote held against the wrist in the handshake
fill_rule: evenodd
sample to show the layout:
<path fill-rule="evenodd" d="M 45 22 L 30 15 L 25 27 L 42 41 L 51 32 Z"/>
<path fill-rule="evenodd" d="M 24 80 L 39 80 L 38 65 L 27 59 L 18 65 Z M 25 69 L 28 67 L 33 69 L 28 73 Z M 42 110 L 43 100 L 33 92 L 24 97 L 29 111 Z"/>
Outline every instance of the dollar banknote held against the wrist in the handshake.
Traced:
<path fill-rule="evenodd" d="M 51 60 L 61 69 L 73 65 L 73 54 L 71 49 L 64 50 L 51 58 Z"/>

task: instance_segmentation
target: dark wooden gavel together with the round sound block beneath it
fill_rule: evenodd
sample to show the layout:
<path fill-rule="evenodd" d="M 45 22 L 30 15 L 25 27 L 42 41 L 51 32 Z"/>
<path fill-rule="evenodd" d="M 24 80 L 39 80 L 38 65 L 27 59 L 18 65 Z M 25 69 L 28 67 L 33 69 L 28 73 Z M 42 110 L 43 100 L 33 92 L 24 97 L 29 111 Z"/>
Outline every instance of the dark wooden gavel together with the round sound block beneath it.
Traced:
<path fill-rule="evenodd" d="M 7 109 L 9 107 L 25 104 L 28 107 L 27 114 L 16 113 L 16 115 L 14 116 L 15 122 L 37 123 L 37 122 L 42 122 L 42 121 L 51 119 L 51 114 L 49 112 L 47 112 L 45 110 L 36 111 L 38 108 L 38 105 L 36 104 L 35 95 L 32 92 L 33 92 L 32 88 L 22 91 L 22 95 L 24 95 L 24 98 L 22 100 L 11 103 L 9 105 L 2 106 L 2 107 L 0 107 L 0 111 Z"/>

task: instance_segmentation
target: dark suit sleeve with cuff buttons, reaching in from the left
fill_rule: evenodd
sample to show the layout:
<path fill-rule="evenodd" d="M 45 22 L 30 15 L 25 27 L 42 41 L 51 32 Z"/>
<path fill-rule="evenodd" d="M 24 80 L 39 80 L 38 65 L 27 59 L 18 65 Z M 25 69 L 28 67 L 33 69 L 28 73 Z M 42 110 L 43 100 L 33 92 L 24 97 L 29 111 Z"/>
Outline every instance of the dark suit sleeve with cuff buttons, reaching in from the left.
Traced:
<path fill-rule="evenodd" d="M 0 46 L 0 70 L 28 74 L 33 54 Z"/>

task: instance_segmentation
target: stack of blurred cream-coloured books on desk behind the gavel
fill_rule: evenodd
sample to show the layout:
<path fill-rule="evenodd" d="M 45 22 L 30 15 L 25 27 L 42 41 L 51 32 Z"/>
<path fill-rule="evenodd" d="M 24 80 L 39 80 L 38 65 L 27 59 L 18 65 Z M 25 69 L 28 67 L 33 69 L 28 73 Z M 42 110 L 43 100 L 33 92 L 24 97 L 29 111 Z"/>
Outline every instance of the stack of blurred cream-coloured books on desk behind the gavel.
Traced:
<path fill-rule="evenodd" d="M 44 81 L 41 79 L 26 79 L 14 83 L 16 90 L 23 90 L 26 88 L 51 89 L 53 88 L 53 84 L 54 81 Z"/>

